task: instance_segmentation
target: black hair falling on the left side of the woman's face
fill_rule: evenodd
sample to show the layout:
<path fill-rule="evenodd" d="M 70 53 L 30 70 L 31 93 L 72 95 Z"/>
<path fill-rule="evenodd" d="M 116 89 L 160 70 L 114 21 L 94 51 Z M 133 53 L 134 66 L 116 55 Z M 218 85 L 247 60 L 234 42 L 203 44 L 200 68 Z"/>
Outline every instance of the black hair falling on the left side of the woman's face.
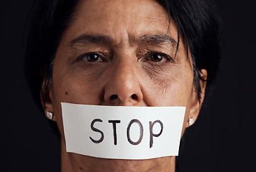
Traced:
<path fill-rule="evenodd" d="M 38 108 L 42 110 L 40 90 L 52 78 L 52 62 L 58 43 L 68 25 L 78 0 L 37 0 L 30 11 L 24 70 Z"/>

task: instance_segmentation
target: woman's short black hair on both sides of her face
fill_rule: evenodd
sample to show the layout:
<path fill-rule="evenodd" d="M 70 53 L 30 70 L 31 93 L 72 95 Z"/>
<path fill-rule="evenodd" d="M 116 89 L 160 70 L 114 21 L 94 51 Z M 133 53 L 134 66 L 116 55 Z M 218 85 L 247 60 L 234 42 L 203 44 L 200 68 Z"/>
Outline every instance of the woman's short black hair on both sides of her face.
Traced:
<path fill-rule="evenodd" d="M 208 72 L 206 90 L 209 90 L 219 66 L 219 15 L 211 1 L 157 0 L 167 11 L 185 40 L 193 62 L 193 83 L 201 100 L 200 71 Z M 78 0 L 37 0 L 27 29 L 25 75 L 32 97 L 42 110 L 40 91 L 42 82 L 52 78 L 52 61 L 65 29 L 73 21 Z M 47 84 L 45 85 L 47 87 Z M 207 92 L 207 91 L 206 91 Z"/>

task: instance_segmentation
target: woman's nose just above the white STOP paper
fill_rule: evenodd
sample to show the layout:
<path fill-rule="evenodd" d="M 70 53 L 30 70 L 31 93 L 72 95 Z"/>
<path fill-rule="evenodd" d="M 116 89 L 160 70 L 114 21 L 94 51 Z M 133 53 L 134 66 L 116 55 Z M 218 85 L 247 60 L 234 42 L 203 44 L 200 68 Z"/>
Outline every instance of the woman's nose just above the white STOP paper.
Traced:
<path fill-rule="evenodd" d="M 139 105 L 143 100 L 138 76 L 129 62 L 116 62 L 107 78 L 104 100 L 108 105 Z"/>

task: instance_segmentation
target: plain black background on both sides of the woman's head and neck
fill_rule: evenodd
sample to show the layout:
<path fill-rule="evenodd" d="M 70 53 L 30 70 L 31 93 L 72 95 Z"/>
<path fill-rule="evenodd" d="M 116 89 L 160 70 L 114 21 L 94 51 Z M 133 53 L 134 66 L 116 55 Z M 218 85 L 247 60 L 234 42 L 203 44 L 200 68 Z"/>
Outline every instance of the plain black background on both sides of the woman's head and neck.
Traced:
<path fill-rule="evenodd" d="M 222 59 L 214 94 L 185 133 L 180 171 L 256 171 L 255 3 L 216 1 Z M 24 80 L 24 28 L 32 0 L 1 1 L 0 171 L 60 171 L 60 143 Z M 210 53 L 210 52 L 209 52 Z"/>

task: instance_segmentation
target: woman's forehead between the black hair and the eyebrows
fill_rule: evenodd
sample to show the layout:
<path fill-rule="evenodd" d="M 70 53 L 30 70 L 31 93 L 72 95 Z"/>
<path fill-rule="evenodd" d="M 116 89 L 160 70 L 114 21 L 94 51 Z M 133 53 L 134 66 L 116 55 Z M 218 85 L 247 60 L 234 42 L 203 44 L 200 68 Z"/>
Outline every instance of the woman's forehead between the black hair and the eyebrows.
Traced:
<path fill-rule="evenodd" d="M 69 39 L 81 34 L 104 34 L 121 42 L 145 34 L 168 33 L 168 15 L 153 0 L 79 1 L 74 16 L 65 35 Z M 172 25 L 170 28 L 175 28 Z"/>

